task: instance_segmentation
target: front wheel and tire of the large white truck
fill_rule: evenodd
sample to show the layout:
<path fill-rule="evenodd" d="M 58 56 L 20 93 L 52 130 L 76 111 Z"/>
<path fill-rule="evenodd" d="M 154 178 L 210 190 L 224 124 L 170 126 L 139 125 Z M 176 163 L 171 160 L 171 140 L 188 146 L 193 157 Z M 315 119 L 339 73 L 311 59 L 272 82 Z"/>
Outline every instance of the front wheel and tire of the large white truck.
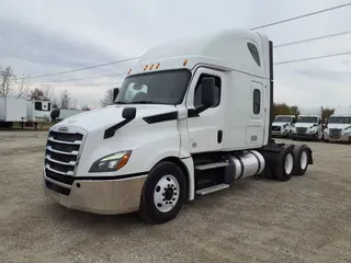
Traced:
<path fill-rule="evenodd" d="M 185 178 L 182 170 L 173 162 L 159 162 L 144 184 L 139 214 L 152 225 L 170 221 L 181 210 L 184 196 Z"/>

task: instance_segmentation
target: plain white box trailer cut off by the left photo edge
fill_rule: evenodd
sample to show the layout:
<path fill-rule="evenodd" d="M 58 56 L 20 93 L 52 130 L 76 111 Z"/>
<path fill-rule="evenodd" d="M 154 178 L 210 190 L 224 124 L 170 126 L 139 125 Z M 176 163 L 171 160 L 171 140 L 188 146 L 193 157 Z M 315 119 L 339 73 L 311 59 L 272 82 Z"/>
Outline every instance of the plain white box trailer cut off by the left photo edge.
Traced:
<path fill-rule="evenodd" d="M 13 96 L 0 98 L 0 125 L 12 128 L 13 123 L 26 122 L 26 100 Z"/>

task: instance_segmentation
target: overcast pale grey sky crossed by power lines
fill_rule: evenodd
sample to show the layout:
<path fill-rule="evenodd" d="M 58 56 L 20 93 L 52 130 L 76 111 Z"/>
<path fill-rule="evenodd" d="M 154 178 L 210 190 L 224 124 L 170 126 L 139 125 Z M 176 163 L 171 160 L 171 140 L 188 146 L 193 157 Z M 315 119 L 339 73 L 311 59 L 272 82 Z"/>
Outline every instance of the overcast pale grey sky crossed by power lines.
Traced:
<path fill-rule="evenodd" d="M 262 24 L 350 0 L 1 0 L 0 67 L 38 76 L 141 56 L 179 36 Z M 351 7 L 258 30 L 280 45 L 351 30 Z M 274 61 L 351 52 L 351 34 L 274 49 Z M 64 89 L 79 105 L 99 107 L 137 60 L 32 79 Z M 104 78 L 65 81 L 104 75 Z M 274 101 L 298 106 L 351 104 L 351 55 L 274 67 Z M 86 85 L 88 84 L 88 85 Z M 99 85 L 93 85 L 99 84 Z"/>

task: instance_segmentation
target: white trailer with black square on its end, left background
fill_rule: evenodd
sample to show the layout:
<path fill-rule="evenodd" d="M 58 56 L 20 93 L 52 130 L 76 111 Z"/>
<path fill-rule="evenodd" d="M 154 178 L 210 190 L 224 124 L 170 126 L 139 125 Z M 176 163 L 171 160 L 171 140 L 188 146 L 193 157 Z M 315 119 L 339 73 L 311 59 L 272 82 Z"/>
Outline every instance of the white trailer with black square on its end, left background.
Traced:
<path fill-rule="evenodd" d="M 38 123 L 50 122 L 52 103 L 49 101 L 27 101 L 26 115 L 27 123 L 34 124 L 35 128 Z"/>

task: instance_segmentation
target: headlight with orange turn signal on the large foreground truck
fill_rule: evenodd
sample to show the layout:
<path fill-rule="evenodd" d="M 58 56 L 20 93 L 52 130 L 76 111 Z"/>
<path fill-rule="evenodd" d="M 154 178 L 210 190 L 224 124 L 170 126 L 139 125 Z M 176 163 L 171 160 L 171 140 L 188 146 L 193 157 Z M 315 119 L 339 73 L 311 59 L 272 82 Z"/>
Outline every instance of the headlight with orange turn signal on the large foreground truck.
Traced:
<path fill-rule="evenodd" d="M 114 172 L 123 168 L 129 160 L 132 151 L 120 151 L 97 160 L 89 172 Z"/>

